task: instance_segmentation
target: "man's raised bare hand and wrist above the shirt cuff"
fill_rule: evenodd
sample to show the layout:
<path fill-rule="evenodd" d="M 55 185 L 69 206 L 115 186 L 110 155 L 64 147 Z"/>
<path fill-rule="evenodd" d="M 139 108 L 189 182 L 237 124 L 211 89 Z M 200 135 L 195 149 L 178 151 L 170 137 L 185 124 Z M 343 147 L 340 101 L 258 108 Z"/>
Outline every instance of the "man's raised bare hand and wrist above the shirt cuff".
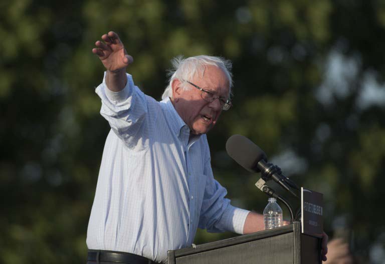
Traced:
<path fill-rule="evenodd" d="M 106 84 L 111 91 L 121 91 L 127 83 L 126 68 L 134 60 L 128 55 L 117 33 L 109 31 L 96 41 L 92 52 L 107 69 Z"/>

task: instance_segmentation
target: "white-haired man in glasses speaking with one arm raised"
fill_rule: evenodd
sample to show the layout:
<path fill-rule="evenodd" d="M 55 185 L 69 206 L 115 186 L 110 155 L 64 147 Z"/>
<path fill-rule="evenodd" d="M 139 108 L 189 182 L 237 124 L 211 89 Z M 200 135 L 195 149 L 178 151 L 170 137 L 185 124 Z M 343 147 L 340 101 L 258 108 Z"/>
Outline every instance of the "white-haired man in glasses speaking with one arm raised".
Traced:
<path fill-rule="evenodd" d="M 111 131 L 88 225 L 87 263 L 165 262 L 167 250 L 193 243 L 198 227 L 262 230 L 263 216 L 232 206 L 211 168 L 206 133 L 231 107 L 230 61 L 174 59 L 158 102 L 126 73 L 133 58 L 119 36 L 110 31 L 102 40 L 92 49 L 106 67 L 96 92 Z"/>

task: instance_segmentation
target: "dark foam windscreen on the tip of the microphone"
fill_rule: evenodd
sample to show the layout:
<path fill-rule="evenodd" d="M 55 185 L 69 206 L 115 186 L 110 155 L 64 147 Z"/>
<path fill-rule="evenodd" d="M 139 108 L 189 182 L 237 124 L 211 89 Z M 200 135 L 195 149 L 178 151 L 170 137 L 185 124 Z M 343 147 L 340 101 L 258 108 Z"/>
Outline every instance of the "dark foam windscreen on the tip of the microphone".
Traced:
<path fill-rule="evenodd" d="M 267 161 L 263 150 L 243 135 L 232 135 L 226 142 L 226 151 L 238 164 L 250 172 L 259 172 L 257 167 L 261 159 Z"/>

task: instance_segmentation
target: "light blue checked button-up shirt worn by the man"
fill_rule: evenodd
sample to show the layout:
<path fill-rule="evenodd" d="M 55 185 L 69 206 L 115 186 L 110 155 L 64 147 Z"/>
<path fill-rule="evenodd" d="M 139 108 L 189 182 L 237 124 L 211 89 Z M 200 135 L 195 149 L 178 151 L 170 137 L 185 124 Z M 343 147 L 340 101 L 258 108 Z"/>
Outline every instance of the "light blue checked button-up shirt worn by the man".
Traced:
<path fill-rule="evenodd" d="M 190 246 L 197 228 L 243 232 L 248 210 L 234 207 L 213 177 L 206 135 L 189 127 L 169 98 L 145 95 L 127 74 L 112 92 L 96 88 L 111 130 L 104 146 L 87 246 L 165 262 L 167 250 Z"/>

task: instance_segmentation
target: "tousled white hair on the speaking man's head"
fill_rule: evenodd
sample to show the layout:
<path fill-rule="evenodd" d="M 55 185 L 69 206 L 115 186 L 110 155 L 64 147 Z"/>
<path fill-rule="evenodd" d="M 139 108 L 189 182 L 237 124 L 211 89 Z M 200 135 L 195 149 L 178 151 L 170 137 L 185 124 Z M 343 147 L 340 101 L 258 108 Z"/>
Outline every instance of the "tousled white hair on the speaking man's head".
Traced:
<path fill-rule="evenodd" d="M 208 65 L 215 65 L 221 68 L 227 78 L 229 79 L 229 98 L 231 97 L 232 87 L 233 87 L 233 78 L 231 73 L 232 64 L 231 61 L 223 57 L 215 57 L 208 55 L 199 55 L 194 57 L 183 58 L 179 55 L 171 59 L 172 68 L 168 72 L 169 81 L 167 87 L 164 89 L 162 94 L 162 99 L 167 97 L 172 98 L 172 87 L 171 83 L 173 79 L 184 79 L 190 80 L 195 74 L 200 74 L 202 77 L 205 74 L 205 69 Z M 190 89 L 191 87 L 184 85 L 184 89 Z"/>

